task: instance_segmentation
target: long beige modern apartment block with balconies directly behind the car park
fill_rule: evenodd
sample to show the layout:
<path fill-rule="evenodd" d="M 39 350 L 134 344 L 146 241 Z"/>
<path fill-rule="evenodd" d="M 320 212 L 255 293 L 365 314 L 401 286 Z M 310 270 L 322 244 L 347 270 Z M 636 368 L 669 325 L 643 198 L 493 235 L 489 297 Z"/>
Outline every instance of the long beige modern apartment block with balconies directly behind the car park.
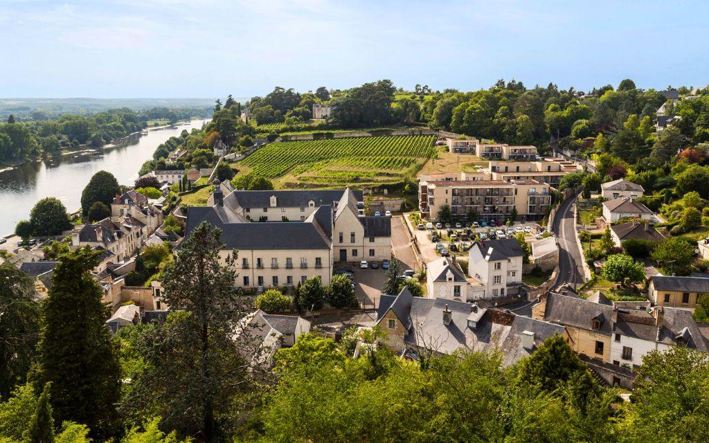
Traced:
<path fill-rule="evenodd" d="M 476 174 L 476 173 L 474 173 Z M 504 221 L 513 210 L 518 218 L 541 220 L 549 210 L 552 197 L 549 185 L 534 180 L 420 181 L 419 209 L 423 218 L 435 219 L 442 206 L 450 206 L 455 220 Z"/>

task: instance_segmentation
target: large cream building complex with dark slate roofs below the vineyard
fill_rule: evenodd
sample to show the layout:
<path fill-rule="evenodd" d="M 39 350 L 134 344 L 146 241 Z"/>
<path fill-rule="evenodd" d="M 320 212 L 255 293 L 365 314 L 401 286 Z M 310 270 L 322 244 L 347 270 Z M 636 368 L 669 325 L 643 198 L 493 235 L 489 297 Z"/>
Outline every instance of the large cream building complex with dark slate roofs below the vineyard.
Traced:
<path fill-rule="evenodd" d="M 202 222 L 220 228 L 223 259 L 238 250 L 235 286 L 240 288 L 296 286 L 313 276 L 329 284 L 334 262 L 391 257 L 391 218 L 362 215 L 361 191 L 233 191 L 224 196 L 217 186 L 213 202 L 188 209 L 186 236 Z"/>

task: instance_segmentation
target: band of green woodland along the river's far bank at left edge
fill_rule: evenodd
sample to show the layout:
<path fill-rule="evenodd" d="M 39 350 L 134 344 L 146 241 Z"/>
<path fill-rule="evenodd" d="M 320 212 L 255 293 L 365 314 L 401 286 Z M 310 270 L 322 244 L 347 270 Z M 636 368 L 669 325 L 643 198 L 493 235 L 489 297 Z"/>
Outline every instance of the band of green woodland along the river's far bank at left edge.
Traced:
<path fill-rule="evenodd" d="M 6 123 L 0 123 L 0 162 L 21 162 L 81 146 L 101 147 L 142 130 L 151 120 L 172 124 L 194 116 L 208 113 L 204 108 L 151 108 L 140 112 L 120 108 L 48 118 L 46 113 L 37 111 L 32 119 L 23 121 L 11 115 Z"/>

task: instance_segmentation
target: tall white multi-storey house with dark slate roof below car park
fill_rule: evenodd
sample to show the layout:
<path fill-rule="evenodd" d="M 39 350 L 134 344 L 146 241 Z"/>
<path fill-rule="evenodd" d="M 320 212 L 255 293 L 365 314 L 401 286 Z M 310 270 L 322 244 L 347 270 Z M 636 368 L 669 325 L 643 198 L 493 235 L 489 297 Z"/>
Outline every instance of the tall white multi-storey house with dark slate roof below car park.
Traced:
<path fill-rule="evenodd" d="M 468 252 L 468 274 L 485 288 L 485 299 L 514 296 L 522 286 L 524 252 L 515 239 L 473 243 Z"/>

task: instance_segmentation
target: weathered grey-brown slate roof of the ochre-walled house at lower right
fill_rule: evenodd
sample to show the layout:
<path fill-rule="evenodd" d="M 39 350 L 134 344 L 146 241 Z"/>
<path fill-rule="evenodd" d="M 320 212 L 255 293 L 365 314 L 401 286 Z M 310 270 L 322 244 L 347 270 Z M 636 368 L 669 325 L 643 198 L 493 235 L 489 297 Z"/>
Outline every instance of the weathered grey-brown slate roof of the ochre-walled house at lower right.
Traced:
<path fill-rule="evenodd" d="M 593 303 L 583 298 L 562 296 L 553 292 L 547 295 L 544 319 L 549 322 L 592 330 L 591 320 L 594 318 L 601 320 L 601 328 L 597 332 L 610 335 L 613 306 Z"/>

